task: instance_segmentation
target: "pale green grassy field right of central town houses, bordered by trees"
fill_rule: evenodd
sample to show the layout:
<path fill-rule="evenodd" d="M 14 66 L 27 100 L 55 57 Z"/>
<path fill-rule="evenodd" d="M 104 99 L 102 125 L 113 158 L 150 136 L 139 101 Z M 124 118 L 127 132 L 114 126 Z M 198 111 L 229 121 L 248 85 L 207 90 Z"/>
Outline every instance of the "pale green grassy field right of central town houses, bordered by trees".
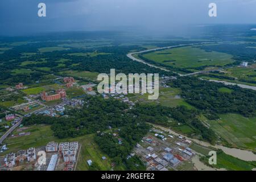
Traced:
<path fill-rule="evenodd" d="M 193 108 L 193 106 L 189 105 L 187 102 L 183 100 L 179 96 L 180 90 L 176 88 L 159 88 L 159 97 L 157 100 L 148 100 L 148 94 L 131 94 L 129 99 L 131 101 L 139 101 L 148 104 L 160 104 L 167 107 L 175 107 L 175 106 L 187 106 L 188 109 Z"/>

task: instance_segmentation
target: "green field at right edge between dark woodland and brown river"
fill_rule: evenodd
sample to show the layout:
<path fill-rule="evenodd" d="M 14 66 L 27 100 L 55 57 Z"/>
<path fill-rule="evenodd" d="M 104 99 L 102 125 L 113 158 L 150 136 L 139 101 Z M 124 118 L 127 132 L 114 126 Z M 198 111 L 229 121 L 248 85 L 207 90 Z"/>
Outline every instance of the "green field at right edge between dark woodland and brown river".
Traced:
<path fill-rule="evenodd" d="M 256 151 L 256 117 L 245 118 L 239 114 L 221 114 L 218 121 L 206 121 L 210 127 L 233 147 Z"/>

